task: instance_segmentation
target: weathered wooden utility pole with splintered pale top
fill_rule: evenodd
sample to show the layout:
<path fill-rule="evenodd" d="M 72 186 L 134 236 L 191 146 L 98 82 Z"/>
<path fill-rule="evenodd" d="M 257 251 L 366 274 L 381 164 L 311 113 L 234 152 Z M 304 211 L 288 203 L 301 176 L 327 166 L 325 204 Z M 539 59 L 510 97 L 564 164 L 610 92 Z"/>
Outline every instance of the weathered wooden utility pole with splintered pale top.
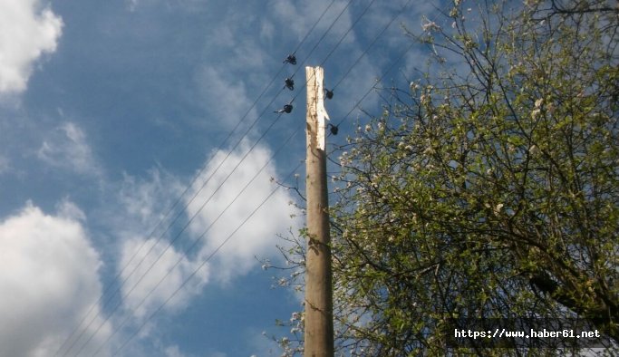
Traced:
<path fill-rule="evenodd" d="M 305 261 L 305 357 L 334 355 L 334 313 L 326 187 L 324 71 L 305 67 L 307 82 L 307 253 Z"/>

